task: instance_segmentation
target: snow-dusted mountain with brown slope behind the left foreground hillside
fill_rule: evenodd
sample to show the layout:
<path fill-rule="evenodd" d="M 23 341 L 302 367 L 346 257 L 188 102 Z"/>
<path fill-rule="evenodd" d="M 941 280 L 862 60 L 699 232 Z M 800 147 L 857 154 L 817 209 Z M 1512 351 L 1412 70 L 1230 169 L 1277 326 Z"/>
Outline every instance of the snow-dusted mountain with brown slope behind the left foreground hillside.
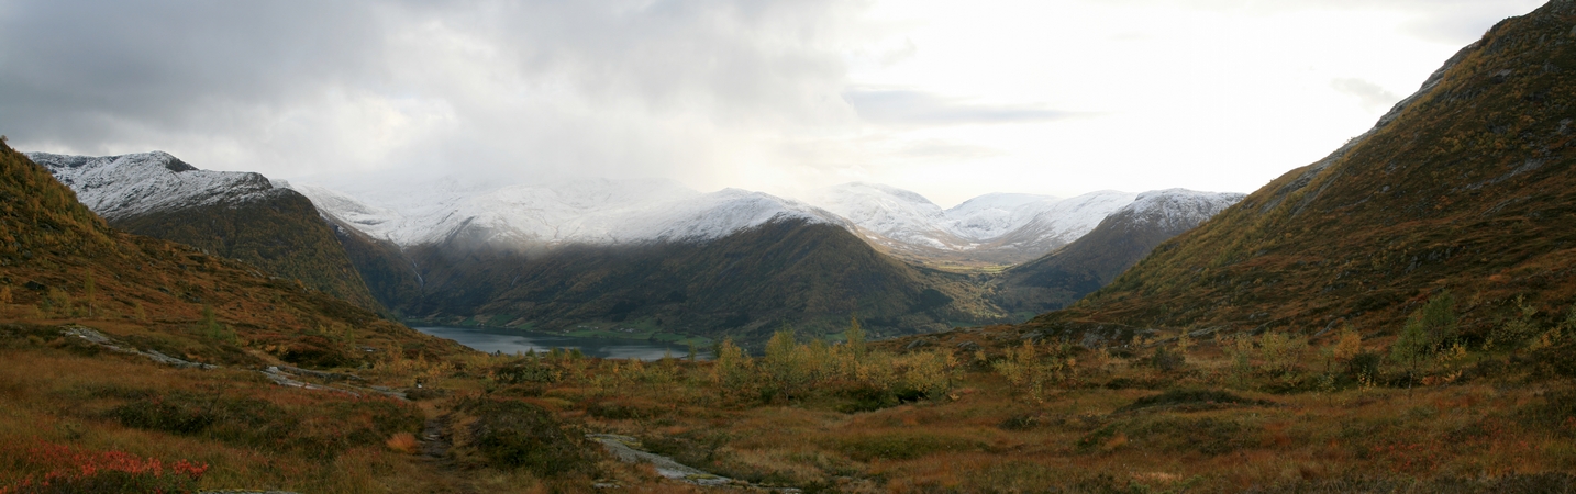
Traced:
<path fill-rule="evenodd" d="M 110 227 L 175 241 L 380 308 L 312 201 L 257 173 L 199 170 L 167 153 L 28 153 Z"/>

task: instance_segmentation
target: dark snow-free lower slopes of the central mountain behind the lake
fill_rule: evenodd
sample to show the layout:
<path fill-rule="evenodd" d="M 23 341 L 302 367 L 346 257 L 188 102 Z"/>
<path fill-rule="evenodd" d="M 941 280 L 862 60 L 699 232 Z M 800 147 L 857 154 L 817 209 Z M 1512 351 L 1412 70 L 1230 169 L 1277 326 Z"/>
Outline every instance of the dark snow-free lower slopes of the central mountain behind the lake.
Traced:
<path fill-rule="evenodd" d="M 433 321 L 567 329 L 588 323 L 764 341 L 783 323 L 876 334 L 1001 321 L 965 275 L 913 267 L 846 230 L 785 219 L 709 242 L 506 250 L 455 238 L 408 250 L 422 293 L 396 307 Z"/>

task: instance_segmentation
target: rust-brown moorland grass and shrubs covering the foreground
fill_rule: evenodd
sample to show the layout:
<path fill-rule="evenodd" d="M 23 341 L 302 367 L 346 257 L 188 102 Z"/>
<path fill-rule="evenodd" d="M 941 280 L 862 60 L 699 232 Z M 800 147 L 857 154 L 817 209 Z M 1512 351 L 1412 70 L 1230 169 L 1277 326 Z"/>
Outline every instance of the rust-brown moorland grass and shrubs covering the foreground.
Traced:
<path fill-rule="evenodd" d="M 112 338 L 143 335 L 128 315 L 85 316 L 84 296 L 39 304 L 77 307 L 72 324 Z M 835 345 L 783 327 L 761 356 L 723 340 L 709 362 L 386 346 L 299 376 L 328 390 L 244 365 L 175 368 L 63 337 L 61 321 L 19 323 L 0 327 L 0 486 L 728 489 L 663 480 L 585 439 L 611 433 L 812 492 L 1568 488 L 1576 310 L 1508 305 L 1491 335 L 1451 332 L 1440 294 L 1404 327 L 1173 330 L 1089 348 L 1013 327 L 865 341 L 857 321 Z M 165 345 L 194 356 L 252 345 L 211 310 L 188 327 Z M 345 374 L 364 381 L 333 378 Z"/>

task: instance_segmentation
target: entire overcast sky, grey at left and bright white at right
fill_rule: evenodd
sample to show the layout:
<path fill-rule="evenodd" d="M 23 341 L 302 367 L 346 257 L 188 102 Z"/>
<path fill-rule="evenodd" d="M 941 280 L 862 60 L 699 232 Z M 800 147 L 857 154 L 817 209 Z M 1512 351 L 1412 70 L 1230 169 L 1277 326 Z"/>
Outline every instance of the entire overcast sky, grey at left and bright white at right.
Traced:
<path fill-rule="evenodd" d="M 0 134 L 287 179 L 1251 192 L 1535 0 L 0 0 Z"/>

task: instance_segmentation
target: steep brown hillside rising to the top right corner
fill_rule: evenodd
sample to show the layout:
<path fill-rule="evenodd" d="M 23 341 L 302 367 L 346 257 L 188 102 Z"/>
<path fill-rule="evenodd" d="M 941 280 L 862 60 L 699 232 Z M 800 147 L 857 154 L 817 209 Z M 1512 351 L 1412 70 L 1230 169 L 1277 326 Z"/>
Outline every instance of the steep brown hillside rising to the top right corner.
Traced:
<path fill-rule="evenodd" d="M 1398 329 L 1450 291 L 1463 330 L 1576 300 L 1576 5 L 1505 19 L 1366 134 L 1029 327 Z"/>

